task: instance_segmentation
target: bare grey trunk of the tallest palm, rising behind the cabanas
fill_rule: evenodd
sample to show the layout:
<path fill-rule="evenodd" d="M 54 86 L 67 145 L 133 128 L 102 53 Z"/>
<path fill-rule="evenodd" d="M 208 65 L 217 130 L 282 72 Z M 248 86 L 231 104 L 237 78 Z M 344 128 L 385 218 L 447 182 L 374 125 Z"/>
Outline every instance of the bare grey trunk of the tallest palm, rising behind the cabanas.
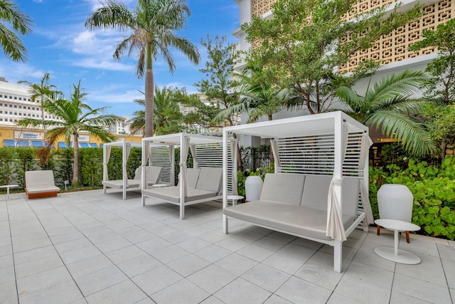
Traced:
<path fill-rule="evenodd" d="M 145 72 L 145 137 L 154 136 L 154 73 L 151 63 L 151 46 L 146 51 Z"/>

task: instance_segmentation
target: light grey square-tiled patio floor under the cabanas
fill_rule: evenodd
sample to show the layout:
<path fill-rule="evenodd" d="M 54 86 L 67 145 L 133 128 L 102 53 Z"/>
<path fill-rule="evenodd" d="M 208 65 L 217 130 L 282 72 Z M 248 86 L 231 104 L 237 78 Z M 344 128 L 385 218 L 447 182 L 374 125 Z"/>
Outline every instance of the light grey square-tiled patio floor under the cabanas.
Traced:
<path fill-rule="evenodd" d="M 411 236 L 422 263 L 380 258 L 392 234 L 354 231 L 333 248 L 130 192 L 0 201 L 0 303 L 452 303 L 455 243 Z M 0 199 L 4 196 L 0 196 Z"/>

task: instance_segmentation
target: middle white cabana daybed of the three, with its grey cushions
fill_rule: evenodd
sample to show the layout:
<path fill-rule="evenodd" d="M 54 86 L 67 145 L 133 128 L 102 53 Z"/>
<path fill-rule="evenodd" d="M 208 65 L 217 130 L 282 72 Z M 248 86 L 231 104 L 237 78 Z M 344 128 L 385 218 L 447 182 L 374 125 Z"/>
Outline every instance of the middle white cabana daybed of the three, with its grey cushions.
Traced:
<path fill-rule="evenodd" d="M 234 151 L 237 141 L 228 139 L 230 147 L 228 151 Z M 180 206 L 180 219 L 185 217 L 185 206 L 198 204 L 204 201 L 221 199 L 221 186 L 223 181 L 223 139 L 207 135 L 194 135 L 177 133 L 146 137 L 142 139 L 142 163 L 154 155 L 154 149 L 164 145 L 168 146 L 171 156 L 173 148 L 180 147 L 180 178 L 177 186 L 173 179 L 169 187 L 149 187 L 142 185 L 142 206 L 145 206 L 146 197 L 152 197 L 161 201 Z M 193 156 L 193 168 L 187 168 L 188 151 Z M 235 150 L 236 151 L 236 150 Z M 174 159 L 171 157 L 171 168 L 174 167 Z M 154 160 L 152 159 L 152 164 Z M 225 161 L 225 168 L 230 172 L 229 182 L 225 184 L 227 193 L 236 193 L 237 187 L 237 154 L 229 154 Z M 166 169 L 166 168 L 165 168 Z"/>

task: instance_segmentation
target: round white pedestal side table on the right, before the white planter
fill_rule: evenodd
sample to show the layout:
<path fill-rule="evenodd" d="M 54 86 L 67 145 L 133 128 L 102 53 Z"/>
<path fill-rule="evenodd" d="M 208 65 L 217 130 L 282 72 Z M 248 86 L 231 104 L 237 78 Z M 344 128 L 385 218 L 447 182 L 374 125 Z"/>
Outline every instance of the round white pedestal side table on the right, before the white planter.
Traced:
<path fill-rule="evenodd" d="M 396 219 L 377 219 L 375 224 L 384 227 L 385 229 L 393 230 L 394 248 L 378 247 L 375 248 L 375 253 L 386 260 L 402 263 L 402 264 L 418 264 L 420 258 L 413 253 L 398 249 L 398 232 L 399 231 L 417 231 L 420 227 L 407 221 L 397 221 Z"/>

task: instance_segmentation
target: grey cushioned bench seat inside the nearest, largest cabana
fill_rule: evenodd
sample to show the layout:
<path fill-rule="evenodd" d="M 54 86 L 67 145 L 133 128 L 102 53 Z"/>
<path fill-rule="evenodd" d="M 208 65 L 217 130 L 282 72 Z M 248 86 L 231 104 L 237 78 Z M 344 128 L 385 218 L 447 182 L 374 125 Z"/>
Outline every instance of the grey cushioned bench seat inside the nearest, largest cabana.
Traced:
<path fill-rule="evenodd" d="M 304 174 L 266 174 L 259 201 L 226 206 L 224 232 L 228 217 L 247 221 L 285 234 L 326 243 L 334 247 L 334 270 L 341 272 L 342 241 L 326 236 L 327 201 L 331 176 Z M 359 179 L 342 181 L 342 221 L 348 236 L 365 213 L 358 215 Z"/>

